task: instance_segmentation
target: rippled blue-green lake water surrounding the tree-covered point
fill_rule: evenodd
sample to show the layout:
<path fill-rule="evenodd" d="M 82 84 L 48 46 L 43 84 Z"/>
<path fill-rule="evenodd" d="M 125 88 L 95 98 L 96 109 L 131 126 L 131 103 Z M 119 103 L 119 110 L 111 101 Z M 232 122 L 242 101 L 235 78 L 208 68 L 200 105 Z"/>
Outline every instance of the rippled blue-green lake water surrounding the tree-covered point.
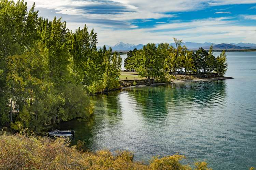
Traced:
<path fill-rule="evenodd" d="M 218 55 L 219 53 L 214 53 Z M 75 143 L 132 151 L 135 160 L 175 153 L 213 169 L 256 167 L 256 52 L 227 52 L 231 80 L 137 87 L 91 96 L 94 116 L 72 120 Z"/>

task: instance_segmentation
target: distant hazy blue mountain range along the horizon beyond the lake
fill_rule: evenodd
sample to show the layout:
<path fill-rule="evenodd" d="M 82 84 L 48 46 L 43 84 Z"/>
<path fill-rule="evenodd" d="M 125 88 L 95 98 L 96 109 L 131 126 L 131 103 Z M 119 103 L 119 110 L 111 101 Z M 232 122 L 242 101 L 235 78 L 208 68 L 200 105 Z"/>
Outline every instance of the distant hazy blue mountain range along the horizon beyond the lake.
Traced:
<path fill-rule="evenodd" d="M 185 42 L 182 44 L 182 46 L 186 46 L 188 49 L 198 49 L 200 47 L 204 48 L 204 49 L 209 49 L 209 47 L 213 44 L 213 49 L 256 49 L 256 44 L 253 43 L 230 43 L 230 44 L 214 44 L 214 43 L 193 43 L 193 42 Z M 158 47 L 159 43 L 156 44 L 156 46 Z M 175 46 L 175 43 L 171 43 L 171 46 Z M 139 45 L 134 45 L 134 44 L 129 44 L 129 43 L 123 43 L 122 41 L 120 41 L 119 43 L 117 43 L 114 46 L 108 46 L 105 45 L 107 49 L 109 49 L 110 47 L 112 48 L 113 51 L 129 51 L 129 50 L 133 50 L 134 48 L 142 49 L 142 47 L 144 46 L 143 44 L 139 44 Z M 102 47 L 98 47 L 102 48 Z"/>

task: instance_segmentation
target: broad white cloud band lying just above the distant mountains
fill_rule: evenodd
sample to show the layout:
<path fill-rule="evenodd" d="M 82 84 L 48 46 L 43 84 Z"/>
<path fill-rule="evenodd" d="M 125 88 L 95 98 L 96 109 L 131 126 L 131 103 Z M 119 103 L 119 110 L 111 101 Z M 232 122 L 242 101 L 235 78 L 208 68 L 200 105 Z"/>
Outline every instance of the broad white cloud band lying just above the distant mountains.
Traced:
<path fill-rule="evenodd" d="M 227 19 L 227 17 L 225 18 Z M 114 45 L 120 40 L 132 44 L 171 43 L 172 37 L 203 43 L 255 43 L 256 31 L 253 26 L 240 26 L 221 18 L 207 18 L 191 22 L 157 24 L 154 28 L 134 30 L 111 30 L 97 28 L 99 45 Z M 111 39 L 109 38 L 111 37 Z"/>

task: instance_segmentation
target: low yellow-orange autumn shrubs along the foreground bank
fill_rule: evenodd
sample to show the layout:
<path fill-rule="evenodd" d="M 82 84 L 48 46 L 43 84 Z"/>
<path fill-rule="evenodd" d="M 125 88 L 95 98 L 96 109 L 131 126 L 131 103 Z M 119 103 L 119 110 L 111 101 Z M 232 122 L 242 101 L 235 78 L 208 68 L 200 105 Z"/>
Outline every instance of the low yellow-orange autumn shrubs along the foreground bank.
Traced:
<path fill-rule="evenodd" d="M 148 165 L 135 162 L 127 151 L 115 154 L 107 150 L 95 153 L 78 151 L 76 146 L 70 146 L 68 138 L 35 137 L 25 130 L 15 135 L 0 136 L 0 169 L 193 169 L 183 165 L 180 162 L 183 159 L 183 155 L 155 157 Z M 205 162 L 196 162 L 194 167 L 195 170 L 209 169 Z"/>

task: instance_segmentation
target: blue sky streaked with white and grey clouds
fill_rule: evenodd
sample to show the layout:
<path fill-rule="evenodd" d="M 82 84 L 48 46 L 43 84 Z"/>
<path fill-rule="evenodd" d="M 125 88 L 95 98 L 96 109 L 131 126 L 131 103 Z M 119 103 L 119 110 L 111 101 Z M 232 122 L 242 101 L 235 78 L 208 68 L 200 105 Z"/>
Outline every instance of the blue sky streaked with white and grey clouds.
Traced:
<path fill-rule="evenodd" d="M 256 43 L 256 0 L 27 0 L 39 16 L 94 29 L 98 45 Z"/>

